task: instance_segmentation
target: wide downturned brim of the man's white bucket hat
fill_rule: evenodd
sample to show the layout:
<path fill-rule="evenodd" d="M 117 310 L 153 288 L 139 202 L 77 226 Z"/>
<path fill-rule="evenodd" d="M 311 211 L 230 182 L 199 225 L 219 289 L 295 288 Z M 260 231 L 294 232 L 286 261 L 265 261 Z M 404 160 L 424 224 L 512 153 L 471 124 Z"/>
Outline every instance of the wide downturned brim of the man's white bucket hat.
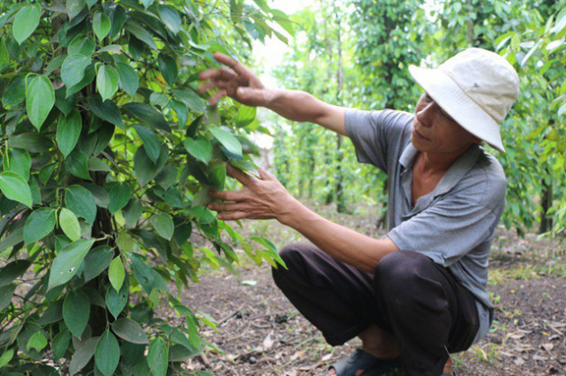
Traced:
<path fill-rule="evenodd" d="M 455 121 L 495 149 L 505 153 L 500 127 L 477 103 L 472 101 L 452 78 L 441 69 L 409 66 L 412 78 Z"/>

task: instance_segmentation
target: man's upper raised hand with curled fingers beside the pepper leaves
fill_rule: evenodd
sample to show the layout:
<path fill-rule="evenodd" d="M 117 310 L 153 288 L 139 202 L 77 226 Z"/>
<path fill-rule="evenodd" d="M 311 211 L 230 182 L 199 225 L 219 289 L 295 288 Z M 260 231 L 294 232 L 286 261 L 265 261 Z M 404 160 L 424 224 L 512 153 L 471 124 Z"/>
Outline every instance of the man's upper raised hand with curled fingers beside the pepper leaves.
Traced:
<path fill-rule="evenodd" d="M 220 52 L 214 54 L 218 63 L 226 67 L 209 69 L 199 75 L 204 84 L 199 92 L 218 91 L 208 101 L 215 105 L 226 95 L 247 106 L 266 106 L 271 92 L 266 89 L 258 77 L 242 63 Z"/>

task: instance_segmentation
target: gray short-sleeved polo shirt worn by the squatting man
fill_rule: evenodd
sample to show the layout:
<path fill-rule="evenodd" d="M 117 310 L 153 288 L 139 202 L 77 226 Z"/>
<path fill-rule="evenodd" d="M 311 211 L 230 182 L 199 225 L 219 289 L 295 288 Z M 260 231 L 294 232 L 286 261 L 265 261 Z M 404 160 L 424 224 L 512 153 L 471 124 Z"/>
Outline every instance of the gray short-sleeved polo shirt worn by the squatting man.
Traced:
<path fill-rule="evenodd" d="M 387 236 L 399 249 L 416 250 L 447 267 L 476 298 L 480 328 L 491 326 L 493 306 L 486 291 L 488 255 L 505 205 L 505 173 L 491 154 L 474 145 L 461 155 L 429 194 L 411 203 L 411 144 L 414 115 L 384 109 L 345 113 L 346 132 L 358 161 L 389 178 Z"/>

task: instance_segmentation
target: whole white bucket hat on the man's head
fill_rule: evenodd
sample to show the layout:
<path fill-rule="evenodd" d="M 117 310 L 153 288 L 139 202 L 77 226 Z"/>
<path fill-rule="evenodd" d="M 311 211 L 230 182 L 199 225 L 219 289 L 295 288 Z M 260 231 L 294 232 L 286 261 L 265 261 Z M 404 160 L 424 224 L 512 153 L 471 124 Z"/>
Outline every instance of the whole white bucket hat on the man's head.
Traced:
<path fill-rule="evenodd" d="M 517 99 L 519 78 L 504 57 L 468 48 L 436 69 L 409 66 L 409 72 L 460 126 L 505 153 L 499 125 Z"/>

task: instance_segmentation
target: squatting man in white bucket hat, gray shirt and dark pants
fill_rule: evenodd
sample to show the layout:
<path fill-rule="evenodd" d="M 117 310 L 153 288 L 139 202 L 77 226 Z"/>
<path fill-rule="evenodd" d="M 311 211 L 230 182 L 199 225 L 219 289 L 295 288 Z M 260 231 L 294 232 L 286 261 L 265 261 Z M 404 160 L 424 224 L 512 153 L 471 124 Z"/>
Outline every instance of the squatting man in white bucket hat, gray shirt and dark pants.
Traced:
<path fill-rule="evenodd" d="M 415 113 L 360 111 L 305 92 L 265 88 L 230 57 L 200 75 L 218 89 L 284 118 L 349 136 L 359 162 L 388 174 L 389 232 L 372 239 L 327 221 L 291 197 L 275 177 L 228 168 L 237 192 L 213 192 L 222 220 L 275 218 L 314 246 L 288 245 L 276 284 L 331 345 L 362 347 L 330 375 L 369 375 L 401 364 L 410 375 L 438 375 L 450 353 L 484 336 L 493 308 L 485 290 L 488 254 L 505 201 L 500 163 L 480 144 L 504 152 L 499 124 L 517 98 L 518 76 L 499 55 L 469 48 L 436 69 L 410 66 L 425 90 Z"/>

